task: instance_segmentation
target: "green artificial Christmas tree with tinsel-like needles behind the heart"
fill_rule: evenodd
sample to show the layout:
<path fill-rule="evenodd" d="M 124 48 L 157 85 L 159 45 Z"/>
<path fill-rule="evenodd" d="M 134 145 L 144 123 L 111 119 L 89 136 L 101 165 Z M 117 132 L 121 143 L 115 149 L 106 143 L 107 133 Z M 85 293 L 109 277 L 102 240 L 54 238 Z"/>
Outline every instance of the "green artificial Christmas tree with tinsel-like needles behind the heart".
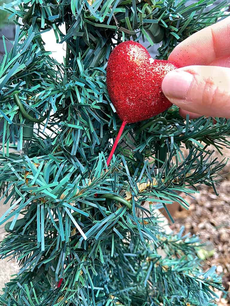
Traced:
<path fill-rule="evenodd" d="M 215 189 L 224 160 L 209 145 L 229 144 L 230 121 L 184 121 L 173 106 L 127 125 L 107 166 L 121 120 L 105 70 L 113 47 L 131 39 L 162 41 L 158 57 L 167 59 L 179 41 L 224 18 L 228 1 L 213 2 L 3 6 L 17 30 L 0 66 L 0 180 L 10 202 L 0 253 L 21 270 L 1 305 L 212 305 L 220 278 L 214 268 L 202 271 L 198 238 L 164 233 L 154 209 L 168 212 L 174 201 L 188 208 L 180 193 L 192 195 L 196 184 Z M 40 35 L 50 29 L 67 43 L 64 64 L 45 50 Z M 9 153 L 15 145 L 19 154 Z"/>

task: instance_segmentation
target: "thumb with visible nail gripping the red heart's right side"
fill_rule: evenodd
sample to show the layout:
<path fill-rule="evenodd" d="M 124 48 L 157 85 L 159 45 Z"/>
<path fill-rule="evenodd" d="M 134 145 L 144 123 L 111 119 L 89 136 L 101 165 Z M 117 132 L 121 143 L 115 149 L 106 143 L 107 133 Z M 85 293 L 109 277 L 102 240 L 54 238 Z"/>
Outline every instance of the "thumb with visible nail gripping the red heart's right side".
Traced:
<path fill-rule="evenodd" d="M 164 95 L 183 110 L 230 118 L 230 68 L 188 66 L 173 70 L 162 82 Z"/>

